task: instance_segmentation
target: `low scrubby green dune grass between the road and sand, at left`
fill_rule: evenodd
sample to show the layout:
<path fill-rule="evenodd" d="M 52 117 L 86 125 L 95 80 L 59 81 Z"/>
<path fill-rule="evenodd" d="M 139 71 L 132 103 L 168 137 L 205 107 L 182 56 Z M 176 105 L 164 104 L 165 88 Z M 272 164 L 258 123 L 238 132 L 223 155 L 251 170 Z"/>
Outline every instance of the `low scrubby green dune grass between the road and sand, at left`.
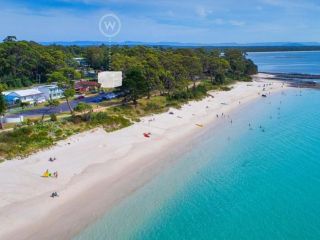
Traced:
<path fill-rule="evenodd" d="M 55 122 L 28 120 L 12 131 L 0 133 L 0 159 L 26 157 L 52 147 L 57 141 L 96 127 L 103 127 L 107 132 L 111 132 L 131 124 L 131 121 L 123 116 L 109 115 L 106 112 L 92 113 L 89 119 L 77 115 Z"/>

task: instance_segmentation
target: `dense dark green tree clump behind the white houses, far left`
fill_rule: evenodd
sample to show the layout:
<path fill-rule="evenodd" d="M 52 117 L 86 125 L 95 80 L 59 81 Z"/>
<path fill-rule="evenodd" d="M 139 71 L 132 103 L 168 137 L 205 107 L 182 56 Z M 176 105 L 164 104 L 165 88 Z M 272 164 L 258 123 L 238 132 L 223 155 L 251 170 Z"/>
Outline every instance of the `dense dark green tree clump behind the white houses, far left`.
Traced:
<path fill-rule="evenodd" d="M 0 43 L 0 79 L 8 87 L 46 82 L 47 76 L 67 66 L 72 56 L 53 46 L 16 41 L 7 37 Z"/>

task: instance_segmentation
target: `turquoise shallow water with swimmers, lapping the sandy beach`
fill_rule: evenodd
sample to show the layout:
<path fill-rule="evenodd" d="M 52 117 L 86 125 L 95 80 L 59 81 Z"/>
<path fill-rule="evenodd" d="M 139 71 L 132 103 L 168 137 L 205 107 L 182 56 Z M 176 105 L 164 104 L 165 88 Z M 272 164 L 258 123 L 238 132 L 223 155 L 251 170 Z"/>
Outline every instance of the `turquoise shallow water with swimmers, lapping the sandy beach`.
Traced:
<path fill-rule="evenodd" d="M 75 239 L 320 239 L 319 105 L 295 89 L 243 106 Z"/>

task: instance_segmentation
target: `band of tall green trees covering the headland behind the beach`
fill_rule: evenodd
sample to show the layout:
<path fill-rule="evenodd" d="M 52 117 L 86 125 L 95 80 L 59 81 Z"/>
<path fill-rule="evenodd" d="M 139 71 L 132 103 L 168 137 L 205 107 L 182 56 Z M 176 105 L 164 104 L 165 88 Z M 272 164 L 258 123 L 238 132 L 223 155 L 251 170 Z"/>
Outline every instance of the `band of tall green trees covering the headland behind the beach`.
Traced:
<path fill-rule="evenodd" d="M 257 72 L 257 66 L 239 49 L 43 46 L 8 36 L 0 43 L 0 84 L 18 88 L 58 82 L 68 100 L 74 96 L 73 80 L 84 74 L 73 60 L 76 57 L 86 59 L 87 70 L 122 71 L 123 89 L 133 102 L 140 95 L 150 97 L 153 91 L 171 95 L 188 90 L 198 80 L 223 84 L 226 79 L 248 80 Z"/>

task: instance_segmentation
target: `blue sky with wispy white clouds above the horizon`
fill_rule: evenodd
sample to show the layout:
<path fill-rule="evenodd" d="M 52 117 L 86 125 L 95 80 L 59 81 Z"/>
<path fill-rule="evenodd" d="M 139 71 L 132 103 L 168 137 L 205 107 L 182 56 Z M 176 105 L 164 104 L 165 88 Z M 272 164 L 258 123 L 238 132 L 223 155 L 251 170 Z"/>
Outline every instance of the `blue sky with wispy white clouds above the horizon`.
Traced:
<path fill-rule="evenodd" d="M 117 42 L 320 42 L 319 0 L 0 0 L 0 39 L 106 41 L 109 13 Z"/>

